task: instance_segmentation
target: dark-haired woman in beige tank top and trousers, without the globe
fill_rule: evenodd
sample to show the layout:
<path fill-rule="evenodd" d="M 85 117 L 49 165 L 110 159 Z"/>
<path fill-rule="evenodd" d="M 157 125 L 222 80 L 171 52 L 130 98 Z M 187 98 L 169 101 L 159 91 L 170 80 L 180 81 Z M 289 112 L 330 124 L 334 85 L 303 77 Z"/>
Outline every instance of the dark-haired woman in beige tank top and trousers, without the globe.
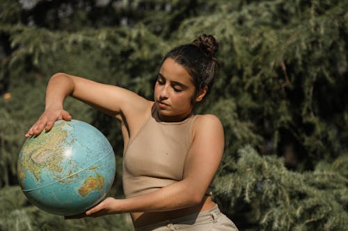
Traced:
<path fill-rule="evenodd" d="M 85 214 L 130 212 L 136 230 L 237 230 L 212 201 L 210 185 L 224 148 L 223 126 L 212 114 L 193 113 L 209 94 L 219 44 L 200 35 L 166 54 L 154 101 L 127 89 L 58 73 L 47 85 L 45 112 L 26 137 L 50 130 L 72 96 L 120 121 L 124 139 L 125 199 L 106 198 Z"/>

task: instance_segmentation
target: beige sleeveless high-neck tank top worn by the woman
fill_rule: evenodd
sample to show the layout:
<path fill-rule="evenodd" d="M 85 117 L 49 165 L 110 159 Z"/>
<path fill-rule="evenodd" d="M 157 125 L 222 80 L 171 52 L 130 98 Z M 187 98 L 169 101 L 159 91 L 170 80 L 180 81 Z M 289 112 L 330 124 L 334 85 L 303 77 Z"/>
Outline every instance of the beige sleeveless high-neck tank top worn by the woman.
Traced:
<path fill-rule="evenodd" d="M 182 180 L 191 146 L 191 127 L 198 115 L 163 122 L 155 106 L 123 154 L 122 183 L 127 198 L 147 194 Z M 211 195 L 211 187 L 207 189 Z"/>

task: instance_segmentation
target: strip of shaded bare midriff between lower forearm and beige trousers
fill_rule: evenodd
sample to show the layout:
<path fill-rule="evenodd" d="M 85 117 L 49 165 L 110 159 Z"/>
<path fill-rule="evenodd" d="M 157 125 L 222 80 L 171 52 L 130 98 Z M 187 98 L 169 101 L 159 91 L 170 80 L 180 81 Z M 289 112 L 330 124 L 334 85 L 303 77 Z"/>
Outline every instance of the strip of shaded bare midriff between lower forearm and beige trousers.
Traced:
<path fill-rule="evenodd" d="M 202 203 L 193 205 L 191 207 L 165 212 L 132 212 L 131 215 L 134 227 L 139 228 L 160 221 L 176 219 L 181 216 L 187 216 L 190 214 L 212 209 L 212 207 L 214 207 L 215 205 L 216 204 L 212 201 L 211 196 L 205 196 L 205 198 L 203 198 L 202 200 Z"/>

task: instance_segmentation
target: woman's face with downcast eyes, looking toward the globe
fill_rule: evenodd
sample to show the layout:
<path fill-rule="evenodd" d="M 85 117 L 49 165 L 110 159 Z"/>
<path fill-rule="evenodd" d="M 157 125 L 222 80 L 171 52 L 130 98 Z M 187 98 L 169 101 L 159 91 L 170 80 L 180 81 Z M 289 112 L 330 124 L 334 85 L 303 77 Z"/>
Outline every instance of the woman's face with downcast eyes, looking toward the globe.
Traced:
<path fill-rule="evenodd" d="M 155 85 L 159 118 L 168 122 L 185 119 L 193 109 L 191 99 L 194 92 L 195 86 L 187 70 L 172 58 L 164 60 Z M 200 100 L 198 96 L 195 101 Z"/>

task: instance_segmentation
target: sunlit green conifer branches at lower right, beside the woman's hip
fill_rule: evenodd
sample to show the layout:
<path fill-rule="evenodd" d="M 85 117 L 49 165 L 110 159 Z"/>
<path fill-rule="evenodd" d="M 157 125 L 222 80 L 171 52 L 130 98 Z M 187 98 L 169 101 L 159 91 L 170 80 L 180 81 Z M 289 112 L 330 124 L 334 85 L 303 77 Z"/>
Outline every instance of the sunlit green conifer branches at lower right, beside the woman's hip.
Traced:
<path fill-rule="evenodd" d="M 237 162 L 226 160 L 230 173 L 215 181 L 216 197 L 229 198 L 230 213 L 237 214 L 243 200 L 253 213 L 244 219 L 257 230 L 346 230 L 348 180 L 340 173 L 347 172 L 347 155 L 324 169 L 298 173 L 251 146 L 238 154 Z"/>

